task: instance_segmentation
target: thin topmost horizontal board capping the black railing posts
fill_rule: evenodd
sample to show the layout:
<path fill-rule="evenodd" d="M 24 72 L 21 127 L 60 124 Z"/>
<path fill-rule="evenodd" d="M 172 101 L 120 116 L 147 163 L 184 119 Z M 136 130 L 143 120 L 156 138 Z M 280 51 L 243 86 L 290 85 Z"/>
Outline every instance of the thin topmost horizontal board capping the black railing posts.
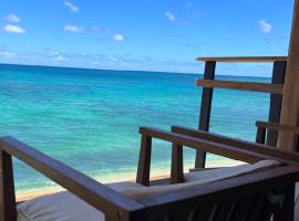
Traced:
<path fill-rule="evenodd" d="M 287 56 L 228 56 L 228 57 L 197 57 L 200 62 L 279 62 L 287 61 Z"/>

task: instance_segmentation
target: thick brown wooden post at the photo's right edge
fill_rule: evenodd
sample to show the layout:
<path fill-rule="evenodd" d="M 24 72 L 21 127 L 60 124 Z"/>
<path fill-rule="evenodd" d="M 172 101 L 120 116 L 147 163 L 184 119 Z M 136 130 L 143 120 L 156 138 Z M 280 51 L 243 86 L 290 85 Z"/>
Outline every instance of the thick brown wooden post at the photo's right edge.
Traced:
<path fill-rule="evenodd" d="M 280 123 L 296 126 L 299 110 L 299 0 L 295 1 L 292 30 L 289 45 L 287 73 L 285 78 L 282 107 Z M 293 150 L 295 135 L 292 133 L 279 133 L 278 147 L 285 150 Z"/>

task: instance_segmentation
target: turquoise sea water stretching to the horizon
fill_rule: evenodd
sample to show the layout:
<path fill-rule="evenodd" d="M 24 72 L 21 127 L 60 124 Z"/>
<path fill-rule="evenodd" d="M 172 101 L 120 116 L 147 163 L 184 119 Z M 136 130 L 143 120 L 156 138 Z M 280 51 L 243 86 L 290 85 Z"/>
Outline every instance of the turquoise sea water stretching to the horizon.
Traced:
<path fill-rule="evenodd" d="M 13 136 L 101 181 L 123 179 L 136 171 L 141 125 L 197 127 L 196 77 L 202 76 L 0 65 L 0 136 Z M 216 90 L 210 130 L 254 140 L 255 120 L 267 119 L 268 106 L 267 94 Z M 193 154 L 186 152 L 186 160 Z M 169 167 L 169 144 L 154 143 L 153 164 Z M 14 165 L 18 191 L 52 186 Z"/>

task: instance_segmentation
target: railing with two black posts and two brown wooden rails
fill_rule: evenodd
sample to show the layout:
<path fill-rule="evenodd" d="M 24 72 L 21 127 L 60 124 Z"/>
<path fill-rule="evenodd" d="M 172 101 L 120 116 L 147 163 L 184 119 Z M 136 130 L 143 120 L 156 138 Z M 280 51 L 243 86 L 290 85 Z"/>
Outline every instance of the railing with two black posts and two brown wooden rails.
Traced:
<path fill-rule="evenodd" d="M 203 80 L 196 80 L 196 85 L 203 87 L 202 105 L 199 113 L 199 130 L 209 130 L 209 119 L 212 110 L 213 88 L 228 88 L 238 91 L 250 91 L 270 93 L 269 122 L 279 123 L 285 73 L 287 67 L 287 56 L 238 56 L 238 57 L 197 57 L 196 61 L 205 62 L 205 72 Z M 271 83 L 257 82 L 233 82 L 216 81 L 217 62 L 269 62 L 274 63 Z M 267 145 L 276 144 L 277 131 L 269 130 Z M 195 168 L 204 168 L 206 164 L 206 154 L 202 150 L 196 152 Z"/>

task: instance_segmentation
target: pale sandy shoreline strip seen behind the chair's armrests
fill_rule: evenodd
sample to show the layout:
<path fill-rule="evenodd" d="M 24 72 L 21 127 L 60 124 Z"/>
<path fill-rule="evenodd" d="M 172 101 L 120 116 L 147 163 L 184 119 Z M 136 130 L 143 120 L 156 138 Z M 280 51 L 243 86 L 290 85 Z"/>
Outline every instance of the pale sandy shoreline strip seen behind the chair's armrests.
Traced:
<path fill-rule="evenodd" d="M 185 172 L 188 172 L 189 169 L 193 168 L 193 161 L 185 162 Z M 207 168 L 217 168 L 217 167 L 233 167 L 244 164 L 241 161 L 230 160 L 230 159 L 209 159 L 207 160 Z M 133 170 L 126 175 L 123 175 L 122 177 L 110 175 L 111 177 L 104 180 L 102 183 L 110 183 L 110 182 L 117 182 L 117 181 L 135 181 L 136 171 Z M 162 168 L 153 168 L 153 171 L 151 171 L 152 180 L 157 179 L 164 179 L 169 177 L 168 169 L 162 169 Z M 102 180 L 100 177 L 93 177 L 96 181 Z M 64 191 L 60 186 L 56 187 L 45 187 L 45 188 L 39 188 L 39 189 L 31 189 L 25 190 L 22 192 L 17 192 L 17 202 L 27 201 L 30 199 L 34 199 L 38 197 L 47 196 L 47 194 L 53 194 L 55 192 Z"/>

